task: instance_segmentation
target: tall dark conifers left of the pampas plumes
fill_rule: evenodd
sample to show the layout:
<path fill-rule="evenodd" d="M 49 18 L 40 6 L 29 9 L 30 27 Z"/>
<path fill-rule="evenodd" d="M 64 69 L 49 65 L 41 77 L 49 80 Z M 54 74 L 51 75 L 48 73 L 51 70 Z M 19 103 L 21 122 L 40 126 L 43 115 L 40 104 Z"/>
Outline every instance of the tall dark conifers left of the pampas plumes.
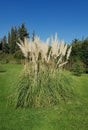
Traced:
<path fill-rule="evenodd" d="M 4 36 L 0 40 L 0 50 L 2 50 L 3 53 L 15 53 L 19 49 L 16 42 L 19 38 L 23 40 L 24 37 L 29 37 L 29 33 L 24 23 L 18 28 L 12 27 L 10 32 L 8 32 L 8 36 Z"/>

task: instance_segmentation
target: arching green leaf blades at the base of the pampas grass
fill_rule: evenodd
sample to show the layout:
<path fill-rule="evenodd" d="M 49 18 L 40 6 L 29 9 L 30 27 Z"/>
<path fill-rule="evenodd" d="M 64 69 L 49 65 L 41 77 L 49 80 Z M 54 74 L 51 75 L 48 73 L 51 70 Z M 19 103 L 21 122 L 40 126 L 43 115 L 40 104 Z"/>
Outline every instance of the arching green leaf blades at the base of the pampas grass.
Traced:
<path fill-rule="evenodd" d="M 33 71 L 24 71 L 17 84 L 16 107 L 48 107 L 70 100 L 73 96 L 72 78 L 64 73 L 46 66 L 39 72 L 36 83 Z"/>

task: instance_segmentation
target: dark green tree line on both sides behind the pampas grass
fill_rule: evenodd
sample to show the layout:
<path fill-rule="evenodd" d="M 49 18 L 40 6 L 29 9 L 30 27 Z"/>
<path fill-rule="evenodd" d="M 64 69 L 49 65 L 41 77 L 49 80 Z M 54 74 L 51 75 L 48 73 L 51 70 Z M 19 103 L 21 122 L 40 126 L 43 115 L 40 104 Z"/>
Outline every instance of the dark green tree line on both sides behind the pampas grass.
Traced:
<path fill-rule="evenodd" d="M 35 32 L 32 33 L 32 40 L 34 40 Z M 0 39 L 0 60 L 5 59 L 6 55 L 12 55 L 16 59 L 22 58 L 22 53 L 17 46 L 16 42 L 21 39 L 24 41 L 24 37 L 30 38 L 30 34 L 24 23 L 18 28 L 12 27 L 8 36 L 4 36 Z M 72 52 L 70 55 L 69 63 L 65 66 L 69 70 L 74 72 L 86 72 L 88 73 L 88 38 L 79 40 L 74 39 L 71 43 Z"/>

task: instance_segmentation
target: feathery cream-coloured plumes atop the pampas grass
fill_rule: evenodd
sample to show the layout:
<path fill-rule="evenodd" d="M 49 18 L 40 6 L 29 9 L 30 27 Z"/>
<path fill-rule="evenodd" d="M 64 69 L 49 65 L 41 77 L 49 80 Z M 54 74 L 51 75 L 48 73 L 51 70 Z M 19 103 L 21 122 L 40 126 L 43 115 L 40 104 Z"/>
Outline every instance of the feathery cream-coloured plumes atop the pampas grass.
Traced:
<path fill-rule="evenodd" d="M 17 45 L 20 47 L 22 53 L 26 58 L 31 59 L 32 62 L 37 62 L 39 54 L 41 54 L 41 60 L 46 61 L 47 63 L 51 57 L 57 59 L 57 65 L 59 67 L 68 62 L 72 48 L 71 46 L 67 51 L 68 45 L 65 44 L 63 40 L 58 40 L 57 33 L 55 34 L 55 37 L 51 39 L 50 51 L 50 38 L 48 38 L 45 42 L 42 42 L 38 36 L 35 36 L 34 41 L 24 38 L 24 42 L 22 40 L 19 40 L 19 42 L 20 43 L 17 43 Z M 64 60 L 65 56 L 66 60 Z"/>

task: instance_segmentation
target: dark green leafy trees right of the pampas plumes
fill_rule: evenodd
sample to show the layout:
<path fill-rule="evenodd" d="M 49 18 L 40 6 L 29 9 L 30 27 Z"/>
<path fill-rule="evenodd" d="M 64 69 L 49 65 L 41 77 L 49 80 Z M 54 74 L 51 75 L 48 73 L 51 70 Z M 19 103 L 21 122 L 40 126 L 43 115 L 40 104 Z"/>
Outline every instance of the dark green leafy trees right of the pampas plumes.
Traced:
<path fill-rule="evenodd" d="M 85 72 L 87 73 L 88 69 L 88 39 L 84 39 L 82 41 L 75 39 L 72 42 L 72 51 L 69 60 L 69 69 L 72 69 L 74 64 L 80 61 L 84 64 Z"/>

